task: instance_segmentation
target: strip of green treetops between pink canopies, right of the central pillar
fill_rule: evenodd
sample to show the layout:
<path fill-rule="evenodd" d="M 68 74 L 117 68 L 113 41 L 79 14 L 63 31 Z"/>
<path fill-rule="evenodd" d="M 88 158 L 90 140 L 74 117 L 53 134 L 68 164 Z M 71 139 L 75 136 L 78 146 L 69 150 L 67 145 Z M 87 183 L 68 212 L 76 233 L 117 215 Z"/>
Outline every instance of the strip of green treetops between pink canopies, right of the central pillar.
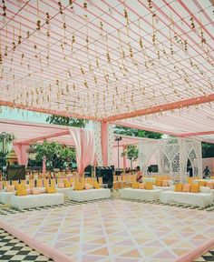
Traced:
<path fill-rule="evenodd" d="M 139 137 L 148 137 L 154 139 L 160 139 L 162 137 L 162 134 L 160 133 L 140 130 L 140 129 L 126 127 L 126 126 L 115 126 L 114 132 L 126 136 L 139 136 Z"/>

